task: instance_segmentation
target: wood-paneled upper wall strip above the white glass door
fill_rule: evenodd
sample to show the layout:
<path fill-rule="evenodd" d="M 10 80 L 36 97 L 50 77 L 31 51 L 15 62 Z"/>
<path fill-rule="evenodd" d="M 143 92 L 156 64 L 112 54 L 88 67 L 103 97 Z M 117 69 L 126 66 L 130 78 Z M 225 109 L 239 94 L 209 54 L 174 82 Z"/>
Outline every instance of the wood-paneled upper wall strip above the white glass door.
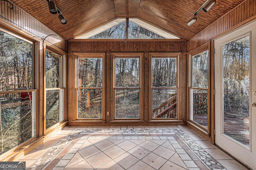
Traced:
<path fill-rule="evenodd" d="M 188 51 L 210 41 L 233 26 L 256 15 L 256 0 L 245 0 L 188 41 Z"/>

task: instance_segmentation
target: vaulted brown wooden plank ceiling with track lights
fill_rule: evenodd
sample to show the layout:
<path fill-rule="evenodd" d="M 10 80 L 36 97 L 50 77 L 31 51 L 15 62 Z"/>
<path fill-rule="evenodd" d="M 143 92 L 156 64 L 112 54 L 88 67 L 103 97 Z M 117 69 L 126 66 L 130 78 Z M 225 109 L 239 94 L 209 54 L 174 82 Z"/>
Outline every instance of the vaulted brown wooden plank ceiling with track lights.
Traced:
<path fill-rule="evenodd" d="M 138 18 L 177 37 L 190 39 L 244 0 L 216 0 L 215 6 L 197 14 L 196 23 L 186 24 L 206 0 L 52 0 L 65 16 L 51 14 L 46 0 L 11 0 L 64 39 L 73 39 L 116 18 Z"/>

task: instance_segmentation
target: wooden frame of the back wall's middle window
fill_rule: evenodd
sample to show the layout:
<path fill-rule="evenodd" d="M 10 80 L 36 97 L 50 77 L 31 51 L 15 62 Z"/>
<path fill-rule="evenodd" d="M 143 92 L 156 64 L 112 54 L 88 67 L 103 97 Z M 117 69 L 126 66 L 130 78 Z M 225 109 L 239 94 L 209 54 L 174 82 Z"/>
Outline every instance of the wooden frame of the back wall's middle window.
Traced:
<path fill-rule="evenodd" d="M 144 121 L 144 53 L 111 53 L 112 58 L 112 81 L 111 81 L 111 94 L 112 94 L 112 101 L 111 104 L 111 121 L 110 122 L 124 122 L 124 121 L 133 121 L 133 122 L 140 122 Z M 128 88 L 128 89 L 139 89 L 140 99 L 139 99 L 139 118 L 138 119 L 128 119 L 128 118 L 115 118 L 115 90 L 116 89 L 124 89 L 121 87 L 116 87 L 116 66 L 115 66 L 115 59 L 116 58 L 139 58 L 140 59 L 140 85 L 136 88 Z"/>

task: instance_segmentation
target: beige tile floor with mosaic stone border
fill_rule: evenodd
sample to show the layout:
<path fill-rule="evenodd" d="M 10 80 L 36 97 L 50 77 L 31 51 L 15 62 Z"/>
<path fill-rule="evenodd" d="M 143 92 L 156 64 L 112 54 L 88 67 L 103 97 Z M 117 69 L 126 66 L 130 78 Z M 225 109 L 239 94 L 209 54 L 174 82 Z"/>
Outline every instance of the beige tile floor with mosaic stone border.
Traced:
<path fill-rule="evenodd" d="M 246 170 L 186 126 L 65 127 L 19 161 L 28 170 Z"/>

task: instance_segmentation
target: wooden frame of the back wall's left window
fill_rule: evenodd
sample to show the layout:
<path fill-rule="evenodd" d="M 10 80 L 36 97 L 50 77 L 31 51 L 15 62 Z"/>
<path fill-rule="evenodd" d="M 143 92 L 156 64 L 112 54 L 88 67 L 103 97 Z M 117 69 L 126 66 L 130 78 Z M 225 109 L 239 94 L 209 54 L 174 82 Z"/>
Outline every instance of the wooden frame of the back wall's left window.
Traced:
<path fill-rule="evenodd" d="M 105 53 L 73 53 L 76 56 L 76 82 L 75 82 L 75 119 L 77 121 L 105 121 L 106 120 L 106 116 L 105 116 L 105 106 L 106 106 L 106 98 L 105 98 L 105 91 L 106 91 L 106 80 L 105 80 L 105 75 L 106 75 L 106 68 L 105 68 L 105 59 L 106 59 L 106 54 Z M 102 59 L 102 87 L 95 87 L 95 88 L 82 88 L 82 87 L 78 87 L 78 59 L 79 58 L 100 58 Z M 102 104 L 101 104 L 101 118 L 78 118 L 78 96 L 77 96 L 77 90 L 78 89 L 101 89 L 102 90 Z"/>

